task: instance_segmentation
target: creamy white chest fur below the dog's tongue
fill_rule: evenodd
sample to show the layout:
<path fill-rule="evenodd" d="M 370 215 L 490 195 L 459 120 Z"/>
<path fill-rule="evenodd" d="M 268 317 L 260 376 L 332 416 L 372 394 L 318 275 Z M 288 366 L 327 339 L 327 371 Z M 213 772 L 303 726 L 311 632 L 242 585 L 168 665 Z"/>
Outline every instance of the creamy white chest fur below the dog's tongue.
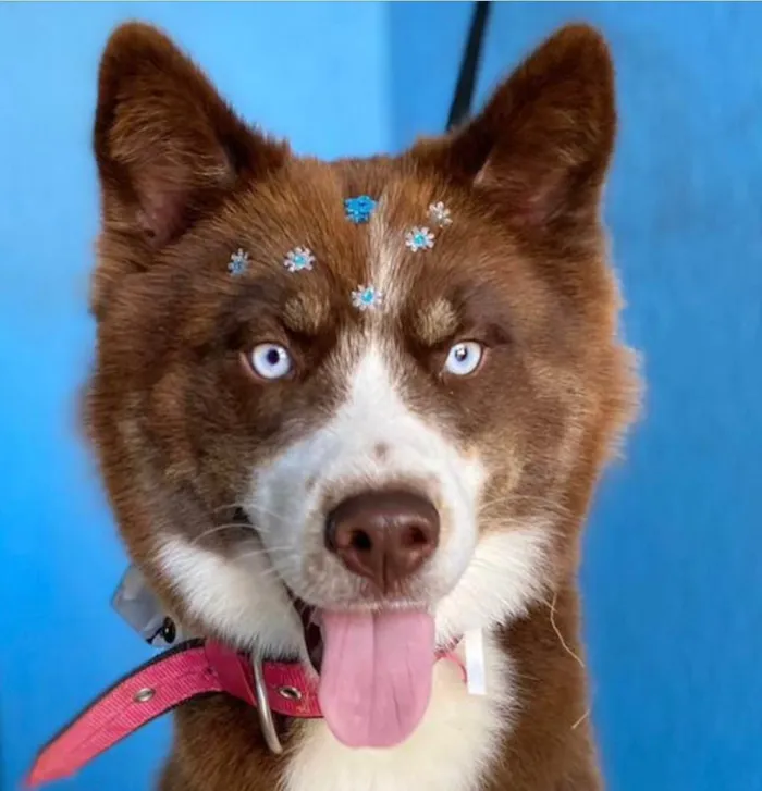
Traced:
<path fill-rule="evenodd" d="M 429 709 L 391 750 L 349 750 L 321 720 L 302 725 L 284 791 L 475 791 L 515 710 L 509 658 L 484 641 L 487 695 L 471 695 L 452 662 L 434 668 Z"/>

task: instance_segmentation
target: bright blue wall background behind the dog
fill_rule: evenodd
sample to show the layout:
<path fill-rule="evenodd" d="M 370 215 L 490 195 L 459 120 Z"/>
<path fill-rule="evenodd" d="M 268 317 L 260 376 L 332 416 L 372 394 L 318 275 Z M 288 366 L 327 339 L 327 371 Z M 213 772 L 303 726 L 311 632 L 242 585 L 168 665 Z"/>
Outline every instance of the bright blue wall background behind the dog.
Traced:
<path fill-rule="evenodd" d="M 445 121 L 463 3 L 0 5 L 0 753 L 35 749 L 148 650 L 108 601 L 124 557 L 77 435 L 94 329 L 90 125 L 110 29 L 164 26 L 250 120 L 322 157 Z M 501 3 L 479 84 L 565 21 L 613 47 L 607 193 L 646 413 L 606 475 L 583 568 L 614 791 L 762 789 L 762 5 Z M 150 726 L 70 789 L 135 791 Z"/>

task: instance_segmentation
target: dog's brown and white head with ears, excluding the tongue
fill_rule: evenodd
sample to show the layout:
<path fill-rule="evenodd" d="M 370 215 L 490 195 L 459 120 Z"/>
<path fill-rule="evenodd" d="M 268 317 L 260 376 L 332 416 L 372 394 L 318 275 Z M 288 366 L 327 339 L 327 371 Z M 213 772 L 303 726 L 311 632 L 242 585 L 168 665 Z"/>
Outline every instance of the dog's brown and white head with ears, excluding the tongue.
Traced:
<path fill-rule="evenodd" d="M 444 644 L 544 595 L 631 396 L 597 34 L 396 159 L 293 157 L 142 26 L 99 87 L 88 425 L 182 619 L 319 665 L 327 614 L 426 614 Z"/>

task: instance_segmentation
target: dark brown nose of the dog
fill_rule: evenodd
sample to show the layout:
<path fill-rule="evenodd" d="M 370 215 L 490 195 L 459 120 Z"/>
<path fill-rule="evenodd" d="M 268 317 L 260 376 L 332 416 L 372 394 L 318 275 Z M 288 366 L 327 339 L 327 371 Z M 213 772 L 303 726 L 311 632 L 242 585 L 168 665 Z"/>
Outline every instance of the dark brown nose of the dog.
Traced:
<path fill-rule="evenodd" d="M 325 546 L 383 592 L 417 571 L 438 544 L 437 508 L 411 492 L 349 497 L 329 514 L 325 526 Z"/>

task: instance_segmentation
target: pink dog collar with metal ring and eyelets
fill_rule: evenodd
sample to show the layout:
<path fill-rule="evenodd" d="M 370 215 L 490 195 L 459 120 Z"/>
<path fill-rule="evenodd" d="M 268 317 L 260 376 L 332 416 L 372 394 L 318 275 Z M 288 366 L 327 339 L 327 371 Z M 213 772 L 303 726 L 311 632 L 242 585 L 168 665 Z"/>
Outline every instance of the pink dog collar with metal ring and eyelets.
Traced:
<path fill-rule="evenodd" d="M 439 658 L 456 662 L 452 653 Z M 465 672 L 465 671 L 464 671 Z M 300 663 L 265 662 L 219 643 L 193 640 L 138 667 L 71 721 L 37 755 L 27 777 L 36 787 L 70 777 L 152 719 L 198 695 L 221 692 L 255 706 L 268 746 L 280 752 L 271 713 L 320 717 L 318 677 Z"/>

